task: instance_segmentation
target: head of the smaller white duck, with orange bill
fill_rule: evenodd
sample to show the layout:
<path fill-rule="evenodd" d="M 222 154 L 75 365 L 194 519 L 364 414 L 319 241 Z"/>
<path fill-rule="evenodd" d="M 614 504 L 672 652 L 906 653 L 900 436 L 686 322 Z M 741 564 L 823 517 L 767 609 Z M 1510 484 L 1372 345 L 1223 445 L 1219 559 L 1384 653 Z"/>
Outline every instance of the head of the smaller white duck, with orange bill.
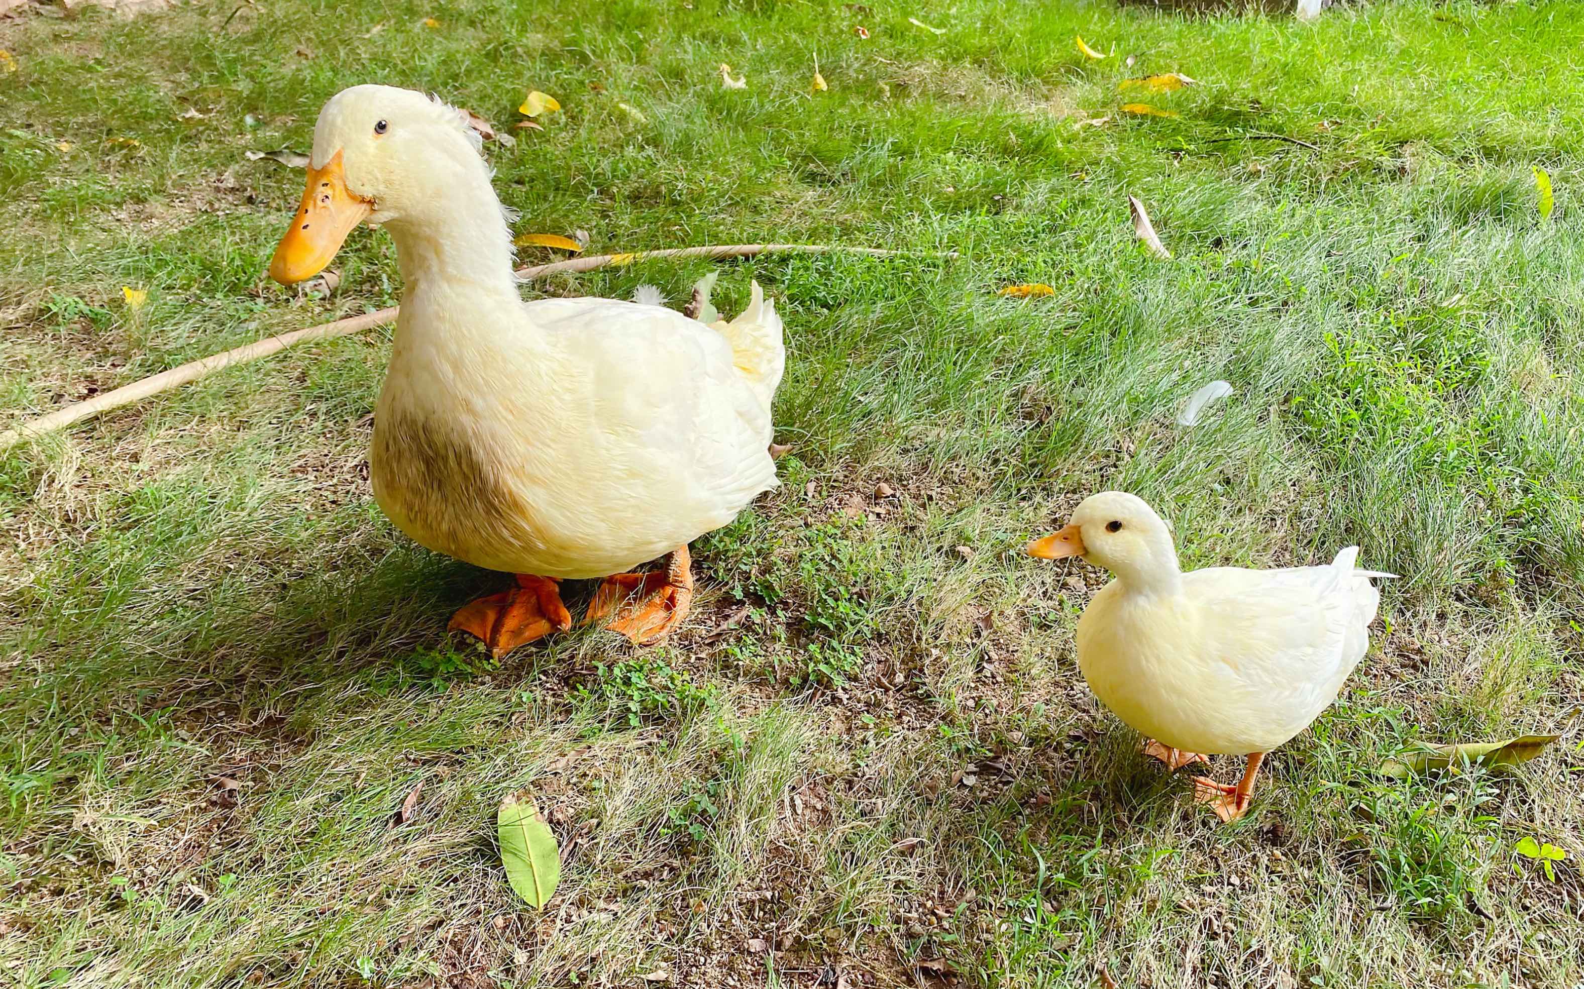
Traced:
<path fill-rule="evenodd" d="M 1148 502 L 1126 491 L 1090 494 L 1066 528 L 1028 544 L 1028 555 L 1041 559 L 1082 556 L 1139 588 L 1171 585 L 1180 575 L 1166 521 Z"/>

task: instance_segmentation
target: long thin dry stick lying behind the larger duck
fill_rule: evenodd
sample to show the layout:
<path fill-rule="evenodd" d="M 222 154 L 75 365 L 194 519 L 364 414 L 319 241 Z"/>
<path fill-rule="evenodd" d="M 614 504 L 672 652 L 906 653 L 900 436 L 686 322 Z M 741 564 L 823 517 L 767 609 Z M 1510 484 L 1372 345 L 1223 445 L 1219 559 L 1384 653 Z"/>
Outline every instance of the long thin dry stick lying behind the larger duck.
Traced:
<path fill-rule="evenodd" d="M 520 281 L 531 281 L 545 274 L 556 274 L 559 271 L 594 271 L 596 268 L 604 268 L 607 265 L 630 265 L 638 260 L 649 258 L 735 258 L 735 257 L 754 257 L 756 254 L 827 254 L 827 252 L 847 252 L 847 254 L 865 254 L 870 257 L 892 257 L 897 254 L 909 254 L 906 250 L 882 250 L 879 247 L 841 247 L 841 246 L 824 246 L 824 244 L 721 244 L 714 247 L 667 247 L 662 250 L 638 250 L 634 254 L 600 254 L 586 258 L 572 258 L 567 262 L 553 262 L 550 265 L 535 265 L 532 268 L 518 268 L 516 277 Z M 957 252 L 949 252 L 944 257 L 955 258 Z M 49 415 L 40 415 L 38 418 L 30 418 L 14 430 L 6 430 L 0 433 L 0 452 L 10 450 L 11 447 L 24 442 L 27 439 L 36 439 L 59 430 L 65 430 L 71 423 L 82 422 L 98 415 L 100 412 L 109 412 L 111 409 L 119 409 L 122 406 L 130 406 L 135 401 L 149 398 L 150 395 L 158 395 L 160 391 L 169 391 L 177 385 L 185 385 L 187 382 L 208 377 L 222 368 L 230 368 L 233 365 L 246 365 L 255 361 L 261 357 L 269 357 L 271 353 L 279 353 L 287 347 L 320 339 L 333 339 L 336 336 L 348 336 L 352 333 L 361 333 L 364 330 L 372 330 L 374 326 L 383 326 L 385 323 L 396 319 L 398 306 L 390 309 L 380 309 L 377 312 L 364 312 L 363 315 L 353 315 L 348 319 L 336 320 L 333 323 L 320 323 L 318 326 L 309 326 L 306 330 L 293 330 L 291 333 L 282 333 L 279 336 L 269 336 L 234 350 L 227 350 L 223 353 L 212 353 L 209 357 L 188 361 L 179 368 L 171 368 L 169 371 L 160 371 L 143 380 L 136 380 L 114 391 L 106 391 L 105 395 L 97 395 L 87 401 L 74 403 L 63 409 L 55 409 Z"/>

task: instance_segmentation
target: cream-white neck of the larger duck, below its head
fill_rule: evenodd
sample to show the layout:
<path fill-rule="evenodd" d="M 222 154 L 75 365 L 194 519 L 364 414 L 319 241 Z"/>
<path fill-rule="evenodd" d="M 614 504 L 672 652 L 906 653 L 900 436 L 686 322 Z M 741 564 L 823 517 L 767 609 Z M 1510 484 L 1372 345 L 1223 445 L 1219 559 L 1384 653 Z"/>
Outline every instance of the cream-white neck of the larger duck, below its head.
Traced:
<path fill-rule="evenodd" d="M 483 298 L 518 298 L 512 273 L 512 231 L 488 179 L 447 189 L 426 216 L 386 223 L 410 296 L 426 284 L 466 284 Z"/>

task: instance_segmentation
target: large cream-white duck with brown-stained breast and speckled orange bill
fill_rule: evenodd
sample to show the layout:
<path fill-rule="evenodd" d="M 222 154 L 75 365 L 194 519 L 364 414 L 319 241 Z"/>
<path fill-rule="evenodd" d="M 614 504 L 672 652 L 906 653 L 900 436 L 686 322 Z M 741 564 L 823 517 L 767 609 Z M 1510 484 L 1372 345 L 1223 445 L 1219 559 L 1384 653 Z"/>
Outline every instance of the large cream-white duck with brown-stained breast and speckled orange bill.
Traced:
<path fill-rule="evenodd" d="M 692 601 L 687 544 L 778 483 L 781 317 L 757 282 L 713 325 L 624 300 L 524 303 L 513 214 L 491 178 L 453 106 L 345 89 L 314 125 L 269 276 L 314 277 L 358 225 L 394 239 L 401 312 L 374 412 L 374 499 L 423 547 L 513 575 L 451 629 L 504 656 L 572 628 L 562 580 L 600 579 L 584 623 L 659 642 Z"/>

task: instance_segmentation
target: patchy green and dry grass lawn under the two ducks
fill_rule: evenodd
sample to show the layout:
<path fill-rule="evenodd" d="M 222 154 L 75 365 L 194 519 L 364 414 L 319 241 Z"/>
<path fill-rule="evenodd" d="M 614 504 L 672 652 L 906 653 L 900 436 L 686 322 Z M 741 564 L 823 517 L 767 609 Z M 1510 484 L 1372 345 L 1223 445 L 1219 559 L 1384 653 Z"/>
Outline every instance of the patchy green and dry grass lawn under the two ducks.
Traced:
<path fill-rule="evenodd" d="M 280 0 L 0 21 L 0 428 L 391 304 L 383 235 L 353 235 L 329 298 L 263 277 L 299 173 L 244 151 L 306 149 L 353 82 L 501 125 L 527 89 L 556 95 L 543 133 L 488 147 L 520 231 L 961 252 L 725 265 L 724 312 L 752 276 L 786 314 L 794 455 L 695 545 L 694 613 L 657 650 L 583 632 L 494 664 L 445 639 L 499 579 L 372 506 L 383 333 L 6 453 L 0 972 L 893 986 L 944 959 L 974 986 L 1101 965 L 1128 987 L 1576 984 L 1576 731 L 1514 778 L 1375 767 L 1413 739 L 1565 731 L 1584 702 L 1581 13 Z M 1114 54 L 1083 60 L 1079 33 Z M 1153 71 L 1201 81 L 1148 97 L 1180 116 L 1118 113 L 1137 98 L 1118 81 Z M 1133 241 L 1128 193 L 1172 262 Z M 706 269 L 534 292 L 680 303 Z M 1011 282 L 1053 296 L 998 298 Z M 1237 393 L 1177 426 L 1215 377 Z M 1019 555 L 1102 488 L 1172 518 L 1185 566 L 1357 542 L 1403 575 L 1237 826 L 1083 686 L 1072 626 L 1099 575 Z M 564 851 L 543 915 L 491 838 L 520 788 Z M 1554 878 L 1514 856 L 1525 837 L 1567 850 Z"/>

